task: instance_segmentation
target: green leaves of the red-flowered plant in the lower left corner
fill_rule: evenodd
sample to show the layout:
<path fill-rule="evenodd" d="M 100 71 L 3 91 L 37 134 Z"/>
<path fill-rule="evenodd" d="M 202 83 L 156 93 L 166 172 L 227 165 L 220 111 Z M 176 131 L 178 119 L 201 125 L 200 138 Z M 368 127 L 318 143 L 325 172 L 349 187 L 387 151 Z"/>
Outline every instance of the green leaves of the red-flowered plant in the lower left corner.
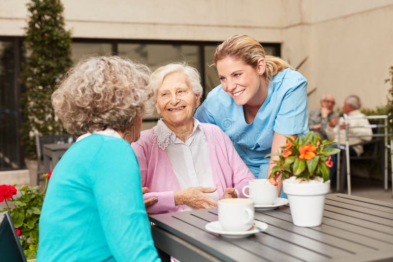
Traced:
<path fill-rule="evenodd" d="M 9 201 L 5 199 L 7 208 L 0 210 L 0 212 L 8 210 L 11 213 L 15 228 L 20 230 L 19 240 L 27 259 L 35 259 L 38 251 L 38 223 L 48 185 L 48 174 L 44 177 L 46 182 L 42 193 L 38 191 L 40 186 L 22 185 L 19 188 L 21 196 L 16 199 L 12 197 Z M 8 203 L 12 203 L 14 207 Z"/>

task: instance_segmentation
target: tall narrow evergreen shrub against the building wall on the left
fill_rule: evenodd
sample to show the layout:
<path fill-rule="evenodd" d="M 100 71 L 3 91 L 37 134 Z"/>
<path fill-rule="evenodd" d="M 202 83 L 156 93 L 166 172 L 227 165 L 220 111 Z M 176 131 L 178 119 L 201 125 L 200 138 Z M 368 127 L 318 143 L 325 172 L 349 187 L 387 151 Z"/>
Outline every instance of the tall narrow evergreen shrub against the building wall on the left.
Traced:
<path fill-rule="evenodd" d="M 21 82 L 22 143 L 27 157 L 35 157 L 35 134 L 63 133 L 51 106 L 56 84 L 71 67 L 71 34 L 64 29 L 60 0 L 31 0 L 26 28 Z"/>

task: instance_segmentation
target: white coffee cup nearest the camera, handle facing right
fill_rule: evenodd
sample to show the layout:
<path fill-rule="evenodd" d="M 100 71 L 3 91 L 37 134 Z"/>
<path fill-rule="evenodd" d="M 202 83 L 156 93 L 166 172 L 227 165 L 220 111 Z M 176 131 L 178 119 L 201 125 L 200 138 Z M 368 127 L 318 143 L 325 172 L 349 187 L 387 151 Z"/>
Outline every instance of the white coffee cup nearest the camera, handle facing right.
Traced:
<path fill-rule="evenodd" d="M 247 231 L 254 223 L 254 203 L 247 198 L 226 198 L 218 202 L 218 220 L 226 231 Z"/>

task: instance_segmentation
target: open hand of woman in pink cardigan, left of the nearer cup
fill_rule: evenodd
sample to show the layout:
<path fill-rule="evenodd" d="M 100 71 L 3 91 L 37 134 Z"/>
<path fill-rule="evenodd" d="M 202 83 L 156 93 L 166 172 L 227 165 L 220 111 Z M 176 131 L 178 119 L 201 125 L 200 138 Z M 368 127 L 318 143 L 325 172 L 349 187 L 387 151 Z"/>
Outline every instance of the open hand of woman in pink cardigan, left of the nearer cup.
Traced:
<path fill-rule="evenodd" d="M 210 209 L 211 206 L 217 207 L 217 201 L 204 193 L 213 193 L 216 187 L 189 187 L 174 192 L 175 205 L 187 205 L 193 209 Z"/>

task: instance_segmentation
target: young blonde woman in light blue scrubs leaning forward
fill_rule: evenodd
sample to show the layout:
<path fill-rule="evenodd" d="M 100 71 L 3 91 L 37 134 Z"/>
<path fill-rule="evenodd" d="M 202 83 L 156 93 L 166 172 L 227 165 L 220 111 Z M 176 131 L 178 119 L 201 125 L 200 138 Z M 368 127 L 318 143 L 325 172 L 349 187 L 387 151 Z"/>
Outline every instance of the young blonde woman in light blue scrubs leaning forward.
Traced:
<path fill-rule="evenodd" d="M 309 131 L 307 80 L 279 57 L 265 55 L 259 42 L 247 35 L 219 45 L 214 64 L 221 84 L 195 118 L 224 130 L 253 174 L 266 178 L 274 164 L 265 156 L 279 152 L 285 136 Z M 278 182 L 280 194 L 281 179 Z"/>

